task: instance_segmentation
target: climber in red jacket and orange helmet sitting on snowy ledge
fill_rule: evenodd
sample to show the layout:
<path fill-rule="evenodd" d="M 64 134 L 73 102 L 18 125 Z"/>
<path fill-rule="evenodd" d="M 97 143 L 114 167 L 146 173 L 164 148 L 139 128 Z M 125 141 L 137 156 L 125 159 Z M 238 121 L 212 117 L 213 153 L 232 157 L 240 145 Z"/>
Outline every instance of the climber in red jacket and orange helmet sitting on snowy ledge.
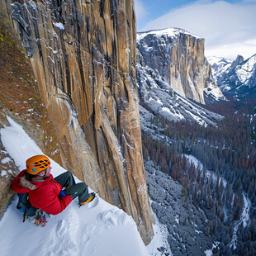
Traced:
<path fill-rule="evenodd" d="M 53 178 L 50 170 L 50 159 L 45 155 L 32 156 L 26 160 L 26 169 L 13 179 L 13 190 L 28 193 L 32 206 L 51 215 L 64 211 L 76 197 L 82 206 L 96 196 L 93 192 L 88 194 L 86 183 L 76 184 L 71 173 L 65 172 Z"/>

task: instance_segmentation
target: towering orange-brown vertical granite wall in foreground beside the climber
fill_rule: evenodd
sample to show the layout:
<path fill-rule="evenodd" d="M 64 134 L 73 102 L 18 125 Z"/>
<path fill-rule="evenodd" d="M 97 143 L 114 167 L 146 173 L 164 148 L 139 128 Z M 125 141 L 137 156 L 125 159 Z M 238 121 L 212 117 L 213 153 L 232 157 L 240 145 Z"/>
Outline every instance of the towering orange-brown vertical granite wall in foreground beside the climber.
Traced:
<path fill-rule="evenodd" d="M 65 168 L 133 216 L 147 244 L 132 1 L 0 3 L 31 58 Z"/>

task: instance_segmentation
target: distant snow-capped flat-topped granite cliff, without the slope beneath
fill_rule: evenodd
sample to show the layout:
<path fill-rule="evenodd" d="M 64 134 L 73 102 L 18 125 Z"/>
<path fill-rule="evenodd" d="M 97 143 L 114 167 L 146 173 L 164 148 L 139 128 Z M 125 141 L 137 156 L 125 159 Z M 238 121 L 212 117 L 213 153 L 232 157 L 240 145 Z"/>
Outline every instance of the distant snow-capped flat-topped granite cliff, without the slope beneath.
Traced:
<path fill-rule="evenodd" d="M 138 33 L 140 64 L 149 66 L 183 97 L 205 103 L 204 89 L 214 88 L 204 39 L 181 29 Z"/>

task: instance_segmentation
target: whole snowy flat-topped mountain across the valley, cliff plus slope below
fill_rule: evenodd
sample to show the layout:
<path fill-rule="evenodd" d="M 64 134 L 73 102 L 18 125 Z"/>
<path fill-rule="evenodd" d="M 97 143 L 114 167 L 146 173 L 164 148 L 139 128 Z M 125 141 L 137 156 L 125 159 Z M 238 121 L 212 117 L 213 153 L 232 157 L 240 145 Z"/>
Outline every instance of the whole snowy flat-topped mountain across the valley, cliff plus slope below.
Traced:
<path fill-rule="evenodd" d="M 211 81 L 204 40 L 198 36 L 177 28 L 138 33 L 136 78 L 143 129 L 157 113 L 169 121 L 187 119 L 202 126 L 216 126 L 223 118 L 197 103 L 205 103 L 205 97 L 225 99 Z"/>

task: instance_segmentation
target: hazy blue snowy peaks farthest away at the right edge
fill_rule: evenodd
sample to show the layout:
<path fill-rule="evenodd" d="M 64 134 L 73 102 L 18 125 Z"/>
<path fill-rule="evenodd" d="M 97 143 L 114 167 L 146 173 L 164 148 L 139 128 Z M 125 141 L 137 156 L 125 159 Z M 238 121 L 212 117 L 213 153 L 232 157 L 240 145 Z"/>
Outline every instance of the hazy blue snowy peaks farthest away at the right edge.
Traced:
<path fill-rule="evenodd" d="M 220 90 L 235 97 L 256 95 L 256 55 L 245 59 L 238 55 L 231 59 L 209 57 L 213 77 Z"/>

